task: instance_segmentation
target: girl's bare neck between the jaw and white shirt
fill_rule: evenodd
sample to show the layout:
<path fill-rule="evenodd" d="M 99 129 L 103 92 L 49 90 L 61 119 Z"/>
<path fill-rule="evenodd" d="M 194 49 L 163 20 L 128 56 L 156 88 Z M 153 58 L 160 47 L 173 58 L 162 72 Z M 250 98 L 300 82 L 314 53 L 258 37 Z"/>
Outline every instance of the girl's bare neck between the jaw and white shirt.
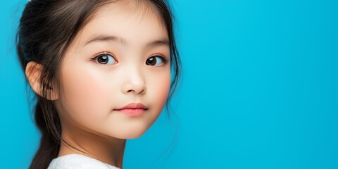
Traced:
<path fill-rule="evenodd" d="M 68 154 L 82 154 L 96 158 L 118 168 L 122 168 L 126 139 L 103 136 L 94 132 L 87 132 L 77 127 L 62 125 L 62 139 L 75 147 L 61 142 L 58 156 Z"/>

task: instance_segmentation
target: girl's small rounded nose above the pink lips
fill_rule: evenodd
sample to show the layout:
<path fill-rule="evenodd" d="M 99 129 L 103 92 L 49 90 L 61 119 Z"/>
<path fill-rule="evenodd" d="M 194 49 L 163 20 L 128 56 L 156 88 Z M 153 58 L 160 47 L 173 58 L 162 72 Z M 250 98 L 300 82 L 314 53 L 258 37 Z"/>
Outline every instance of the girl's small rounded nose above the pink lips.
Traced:
<path fill-rule="evenodd" d="M 140 71 L 128 69 L 125 72 L 125 82 L 122 86 L 122 92 L 124 94 L 132 92 L 134 92 L 134 94 L 146 93 L 146 84 Z"/>

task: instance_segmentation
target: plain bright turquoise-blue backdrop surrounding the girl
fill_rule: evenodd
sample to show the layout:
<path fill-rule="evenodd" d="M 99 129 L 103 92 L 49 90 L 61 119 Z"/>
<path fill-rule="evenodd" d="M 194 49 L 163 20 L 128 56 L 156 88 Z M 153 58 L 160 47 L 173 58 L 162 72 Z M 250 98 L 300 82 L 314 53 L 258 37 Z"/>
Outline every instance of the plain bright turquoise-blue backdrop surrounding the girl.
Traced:
<path fill-rule="evenodd" d="M 39 141 L 13 46 L 25 2 L 1 3 L 1 168 Z M 175 114 L 127 141 L 124 168 L 338 168 L 338 1 L 172 3 Z"/>

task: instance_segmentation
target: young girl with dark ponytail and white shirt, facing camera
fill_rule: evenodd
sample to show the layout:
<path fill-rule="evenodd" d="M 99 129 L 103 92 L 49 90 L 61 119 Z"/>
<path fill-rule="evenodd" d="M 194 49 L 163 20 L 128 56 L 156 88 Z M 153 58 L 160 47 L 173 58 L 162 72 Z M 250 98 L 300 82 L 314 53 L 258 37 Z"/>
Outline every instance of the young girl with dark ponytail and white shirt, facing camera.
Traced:
<path fill-rule="evenodd" d="M 17 36 L 42 133 L 30 168 L 122 168 L 180 79 L 168 2 L 32 0 Z"/>

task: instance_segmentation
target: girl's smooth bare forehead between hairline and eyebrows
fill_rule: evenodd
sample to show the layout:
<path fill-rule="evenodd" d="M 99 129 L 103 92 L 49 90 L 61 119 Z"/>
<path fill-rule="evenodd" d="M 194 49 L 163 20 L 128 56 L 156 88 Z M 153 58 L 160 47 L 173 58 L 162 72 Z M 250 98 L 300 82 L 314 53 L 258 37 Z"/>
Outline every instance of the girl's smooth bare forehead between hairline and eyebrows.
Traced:
<path fill-rule="evenodd" d="M 144 1 L 139 4 L 122 2 L 101 6 L 79 32 L 80 41 L 99 35 L 123 37 L 131 44 L 168 39 L 168 32 L 156 6 Z"/>

